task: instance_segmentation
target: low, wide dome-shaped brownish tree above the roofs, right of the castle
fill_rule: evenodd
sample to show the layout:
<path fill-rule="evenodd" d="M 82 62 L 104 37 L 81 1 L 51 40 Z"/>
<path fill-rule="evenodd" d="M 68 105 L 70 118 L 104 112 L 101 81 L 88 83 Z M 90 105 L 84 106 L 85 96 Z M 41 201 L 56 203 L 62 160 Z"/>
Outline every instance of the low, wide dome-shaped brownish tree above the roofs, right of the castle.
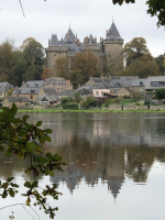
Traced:
<path fill-rule="evenodd" d="M 157 76 L 158 67 L 152 57 L 143 55 L 140 58 L 133 61 L 129 67 L 125 67 L 124 75 L 139 76 L 140 78 L 146 78 L 147 76 Z"/>

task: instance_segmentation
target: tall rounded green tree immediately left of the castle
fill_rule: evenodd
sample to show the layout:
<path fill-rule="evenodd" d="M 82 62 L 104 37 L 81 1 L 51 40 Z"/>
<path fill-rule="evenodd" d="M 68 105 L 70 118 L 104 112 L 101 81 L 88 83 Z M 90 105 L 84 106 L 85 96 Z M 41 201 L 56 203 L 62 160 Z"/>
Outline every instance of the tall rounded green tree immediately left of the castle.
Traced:
<path fill-rule="evenodd" d="M 28 37 L 22 43 L 21 50 L 26 62 L 24 80 L 40 80 L 44 65 L 44 47 L 34 38 Z"/>

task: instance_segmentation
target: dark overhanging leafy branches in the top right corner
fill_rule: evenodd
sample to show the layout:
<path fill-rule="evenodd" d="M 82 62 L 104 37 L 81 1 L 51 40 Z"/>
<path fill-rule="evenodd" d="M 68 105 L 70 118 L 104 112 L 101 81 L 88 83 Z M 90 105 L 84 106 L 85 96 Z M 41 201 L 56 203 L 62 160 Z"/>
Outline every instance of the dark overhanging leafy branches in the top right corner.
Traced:
<path fill-rule="evenodd" d="M 125 3 L 135 3 L 135 0 L 112 0 L 113 3 L 119 3 L 120 6 Z M 147 13 L 151 16 L 156 15 L 158 19 L 157 26 L 165 25 L 165 1 L 164 0 L 146 0 L 145 3 L 148 6 Z"/>

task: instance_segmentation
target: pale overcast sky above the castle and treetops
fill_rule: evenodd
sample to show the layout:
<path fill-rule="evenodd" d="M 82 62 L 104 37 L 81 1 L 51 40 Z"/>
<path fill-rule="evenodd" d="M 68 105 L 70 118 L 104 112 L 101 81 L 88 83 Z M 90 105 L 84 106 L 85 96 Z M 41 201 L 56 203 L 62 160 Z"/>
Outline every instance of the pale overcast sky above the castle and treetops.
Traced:
<path fill-rule="evenodd" d="M 34 37 L 48 46 L 48 38 L 56 33 L 65 36 L 70 28 L 80 41 L 92 34 L 99 41 L 111 26 L 112 16 L 124 43 L 133 37 L 144 37 L 153 56 L 165 53 L 165 31 L 157 29 L 157 18 L 146 13 L 145 0 L 135 4 L 112 4 L 112 0 L 0 0 L 0 43 L 13 38 L 20 46 L 26 37 Z"/>

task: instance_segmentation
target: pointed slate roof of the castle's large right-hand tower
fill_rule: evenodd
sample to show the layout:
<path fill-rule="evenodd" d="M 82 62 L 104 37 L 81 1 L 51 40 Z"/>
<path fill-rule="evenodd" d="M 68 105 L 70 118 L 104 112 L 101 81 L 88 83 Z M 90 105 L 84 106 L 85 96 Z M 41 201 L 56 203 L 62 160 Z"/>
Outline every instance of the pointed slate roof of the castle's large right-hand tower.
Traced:
<path fill-rule="evenodd" d="M 109 31 L 107 31 L 107 36 L 106 36 L 106 41 L 113 41 L 113 40 L 119 40 L 119 41 L 123 41 L 123 38 L 120 36 L 120 33 L 114 24 L 114 22 L 112 22 L 111 28 L 109 29 Z"/>

